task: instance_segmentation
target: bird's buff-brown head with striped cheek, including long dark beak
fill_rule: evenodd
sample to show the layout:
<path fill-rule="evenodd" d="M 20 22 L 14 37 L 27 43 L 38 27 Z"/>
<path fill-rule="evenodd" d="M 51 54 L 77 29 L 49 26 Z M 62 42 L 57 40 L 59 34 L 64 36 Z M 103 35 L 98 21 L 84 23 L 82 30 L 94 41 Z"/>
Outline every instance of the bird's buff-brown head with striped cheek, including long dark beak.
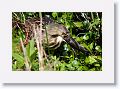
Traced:
<path fill-rule="evenodd" d="M 48 45 L 51 48 L 58 48 L 63 41 L 67 42 L 73 49 L 81 51 L 85 54 L 88 54 L 83 46 L 81 46 L 77 41 L 75 41 L 67 28 L 62 24 L 51 23 L 46 26 Z M 44 35 L 46 38 L 46 35 Z M 45 40 L 44 40 L 45 42 Z"/>

